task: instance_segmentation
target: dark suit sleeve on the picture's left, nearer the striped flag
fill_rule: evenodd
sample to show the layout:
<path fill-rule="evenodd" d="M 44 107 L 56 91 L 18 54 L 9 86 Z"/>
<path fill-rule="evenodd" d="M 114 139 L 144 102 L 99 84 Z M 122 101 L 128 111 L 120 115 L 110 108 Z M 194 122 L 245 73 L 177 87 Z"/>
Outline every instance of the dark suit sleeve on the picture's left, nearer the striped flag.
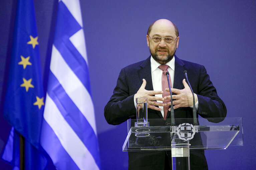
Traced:
<path fill-rule="evenodd" d="M 104 108 L 104 116 L 108 124 L 117 125 L 136 116 L 134 94 L 130 95 L 124 69 L 121 70 L 113 95 Z"/>

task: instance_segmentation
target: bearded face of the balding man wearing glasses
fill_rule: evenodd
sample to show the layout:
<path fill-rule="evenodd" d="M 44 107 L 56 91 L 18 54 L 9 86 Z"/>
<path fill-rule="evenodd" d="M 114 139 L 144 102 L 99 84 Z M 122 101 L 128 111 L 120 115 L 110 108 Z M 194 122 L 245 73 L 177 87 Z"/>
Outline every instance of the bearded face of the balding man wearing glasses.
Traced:
<path fill-rule="evenodd" d="M 176 39 L 175 28 L 168 20 L 159 20 L 153 26 L 149 35 L 152 37 L 170 37 Z M 147 35 L 147 43 L 154 60 L 160 64 L 166 64 L 172 60 L 179 44 L 179 37 L 173 43 L 168 44 L 164 39 L 161 42 L 154 42 Z"/>

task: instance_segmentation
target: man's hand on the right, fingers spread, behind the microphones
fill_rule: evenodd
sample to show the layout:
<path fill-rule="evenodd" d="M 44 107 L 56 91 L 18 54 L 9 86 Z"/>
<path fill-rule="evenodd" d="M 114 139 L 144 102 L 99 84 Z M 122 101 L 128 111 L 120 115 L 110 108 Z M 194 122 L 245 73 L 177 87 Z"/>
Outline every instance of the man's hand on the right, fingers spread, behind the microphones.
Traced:
<path fill-rule="evenodd" d="M 176 88 L 171 88 L 173 93 L 176 93 L 176 95 L 173 95 L 173 108 L 179 108 L 179 107 L 189 107 L 189 106 L 193 106 L 193 95 L 192 92 L 189 88 L 189 85 L 187 84 L 186 80 L 183 79 L 182 81 L 183 85 L 185 88 L 183 88 L 182 90 L 180 89 L 176 89 Z M 168 88 L 166 88 L 166 91 L 170 91 Z M 195 93 L 194 93 L 195 95 Z M 166 99 L 171 99 L 171 96 L 165 96 L 165 100 Z M 195 95 L 195 103 L 197 102 L 197 95 Z M 165 103 L 165 105 L 171 105 L 171 102 Z M 169 108 L 169 111 L 171 110 L 171 108 Z"/>

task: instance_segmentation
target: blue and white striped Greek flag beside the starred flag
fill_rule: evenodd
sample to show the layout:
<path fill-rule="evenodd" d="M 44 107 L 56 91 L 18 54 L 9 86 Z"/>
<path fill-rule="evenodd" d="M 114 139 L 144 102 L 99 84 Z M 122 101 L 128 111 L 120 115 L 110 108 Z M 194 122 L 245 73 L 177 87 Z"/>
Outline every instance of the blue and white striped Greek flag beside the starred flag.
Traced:
<path fill-rule="evenodd" d="M 100 169 L 79 0 L 58 3 L 41 145 L 60 170 Z"/>

